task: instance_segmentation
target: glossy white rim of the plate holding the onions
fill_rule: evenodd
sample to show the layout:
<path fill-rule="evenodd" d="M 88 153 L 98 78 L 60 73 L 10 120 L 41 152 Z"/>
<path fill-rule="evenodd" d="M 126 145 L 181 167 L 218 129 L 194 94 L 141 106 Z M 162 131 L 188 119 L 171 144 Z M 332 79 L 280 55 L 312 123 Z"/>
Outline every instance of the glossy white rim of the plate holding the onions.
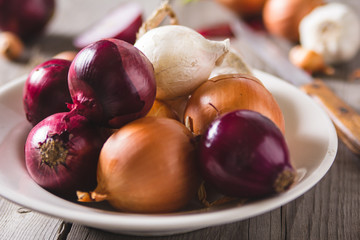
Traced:
<path fill-rule="evenodd" d="M 254 75 L 256 77 L 266 76 L 274 81 L 281 81 L 281 84 L 286 84 L 287 87 L 296 89 L 300 91 L 295 86 L 285 82 L 284 80 L 271 75 L 269 73 L 263 72 L 261 70 L 254 69 Z M 4 84 L 0 87 L 0 95 L 6 93 L 7 91 L 18 87 L 19 84 L 23 84 L 25 81 L 25 76 L 14 79 L 13 81 Z M 266 85 L 266 84 L 265 84 Z M 304 97 L 309 98 L 305 93 Z M 312 100 L 311 100 L 312 101 Z M 329 134 L 329 143 L 326 151 L 326 155 L 323 160 L 317 166 L 315 171 L 302 182 L 298 183 L 294 188 L 289 189 L 288 191 L 277 194 L 274 197 L 267 197 L 262 200 L 256 201 L 256 204 L 250 203 L 243 205 L 241 207 L 232 207 L 223 210 L 217 211 L 197 211 L 191 214 L 175 213 L 175 214 L 161 214 L 161 215 L 147 215 L 147 214 L 132 214 L 132 213 L 119 213 L 119 212 L 109 212 L 109 211 L 81 211 L 74 215 L 73 210 L 63 209 L 59 206 L 52 204 L 45 204 L 45 206 L 34 206 L 38 201 L 29 201 L 31 199 L 10 189 L 10 194 L 4 192 L 4 189 L 0 186 L 0 195 L 5 199 L 14 202 L 15 204 L 22 205 L 24 207 L 30 208 L 42 214 L 64 219 L 71 222 L 77 222 L 90 227 L 100 228 L 107 231 L 119 232 L 119 233 L 140 233 L 141 235 L 162 235 L 162 233 L 179 233 L 187 232 L 195 229 L 227 224 L 235 221 L 240 221 L 244 219 L 249 219 L 261 215 L 266 212 L 270 212 L 276 208 L 279 208 L 292 200 L 298 198 L 299 196 L 305 194 L 309 191 L 314 185 L 316 185 L 328 172 L 332 166 L 338 147 L 338 138 L 336 135 L 336 130 L 332 124 L 330 118 L 327 116 L 326 112 L 314 103 L 314 106 L 318 108 L 319 114 L 325 115 L 325 119 L 328 125 L 328 134 Z M 315 174 L 316 173 L 316 174 Z M 302 187 L 302 190 L 297 190 L 297 188 Z M 297 190 L 297 191 L 296 191 Z M 12 192 L 12 193 L 11 193 Z M 270 203 L 269 206 L 265 206 L 263 203 Z M 258 203 L 261 203 L 261 207 L 257 206 Z M 76 204 L 76 203 L 73 203 Z M 88 208 L 86 206 L 78 205 L 80 208 Z M 45 208 L 44 208 L 45 207 Z M 242 212 L 247 210 L 253 210 L 251 214 L 241 215 Z M 95 214 L 95 217 L 94 217 Z M 102 217 L 101 222 L 99 223 L 98 217 Z M 205 217 L 205 218 L 204 218 Z M 149 221 L 150 220 L 150 221 Z M 206 220 L 206 221 L 204 221 Z"/>

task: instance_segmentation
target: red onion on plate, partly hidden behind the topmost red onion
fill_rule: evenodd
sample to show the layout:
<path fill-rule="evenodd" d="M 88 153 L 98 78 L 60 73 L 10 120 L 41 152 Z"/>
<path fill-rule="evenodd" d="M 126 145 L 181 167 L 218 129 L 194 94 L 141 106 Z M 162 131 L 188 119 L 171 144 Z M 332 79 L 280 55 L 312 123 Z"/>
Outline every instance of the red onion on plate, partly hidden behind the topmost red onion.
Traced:
<path fill-rule="evenodd" d="M 51 59 L 36 66 L 26 79 L 23 105 L 27 120 L 35 126 L 44 118 L 69 111 L 72 103 L 67 83 L 71 62 Z"/>

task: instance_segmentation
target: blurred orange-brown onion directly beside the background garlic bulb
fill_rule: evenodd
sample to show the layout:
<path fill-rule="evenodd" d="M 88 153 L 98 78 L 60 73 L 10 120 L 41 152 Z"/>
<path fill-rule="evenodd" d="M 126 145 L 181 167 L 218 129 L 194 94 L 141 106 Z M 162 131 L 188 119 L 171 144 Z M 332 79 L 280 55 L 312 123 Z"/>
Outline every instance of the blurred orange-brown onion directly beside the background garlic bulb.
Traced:
<path fill-rule="evenodd" d="M 323 0 L 268 0 L 263 9 L 266 29 L 290 41 L 299 41 L 300 21 Z"/>

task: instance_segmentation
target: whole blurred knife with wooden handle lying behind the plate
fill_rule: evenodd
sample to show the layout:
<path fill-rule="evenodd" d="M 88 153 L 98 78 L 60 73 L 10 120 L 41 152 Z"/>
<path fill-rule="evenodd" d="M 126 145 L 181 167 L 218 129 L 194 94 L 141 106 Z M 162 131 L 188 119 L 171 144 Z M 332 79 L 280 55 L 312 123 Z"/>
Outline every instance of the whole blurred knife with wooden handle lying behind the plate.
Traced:
<path fill-rule="evenodd" d="M 267 32 L 255 31 L 241 19 L 234 20 L 231 28 L 235 39 L 242 40 L 276 75 L 312 97 L 329 115 L 338 137 L 353 153 L 360 155 L 360 115 L 336 96 L 323 80 L 312 78 L 289 61 L 290 44 L 281 47 Z"/>

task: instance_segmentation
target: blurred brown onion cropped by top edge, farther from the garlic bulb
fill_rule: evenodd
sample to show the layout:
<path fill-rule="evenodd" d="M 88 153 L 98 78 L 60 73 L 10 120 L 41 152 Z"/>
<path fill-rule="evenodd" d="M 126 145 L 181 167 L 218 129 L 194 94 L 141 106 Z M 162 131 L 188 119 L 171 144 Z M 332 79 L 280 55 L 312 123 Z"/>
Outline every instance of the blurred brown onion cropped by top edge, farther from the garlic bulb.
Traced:
<path fill-rule="evenodd" d="M 216 0 L 232 11 L 244 16 L 260 16 L 266 0 Z"/>

